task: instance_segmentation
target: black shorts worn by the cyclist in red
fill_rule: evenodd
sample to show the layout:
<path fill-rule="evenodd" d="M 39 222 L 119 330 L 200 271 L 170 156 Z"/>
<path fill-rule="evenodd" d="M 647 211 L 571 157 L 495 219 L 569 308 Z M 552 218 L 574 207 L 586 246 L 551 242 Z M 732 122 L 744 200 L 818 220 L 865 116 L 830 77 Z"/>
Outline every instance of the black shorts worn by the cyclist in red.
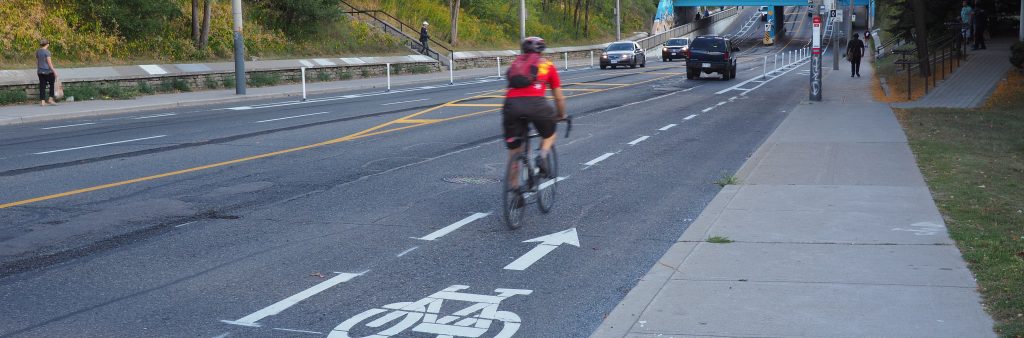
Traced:
<path fill-rule="evenodd" d="M 525 119 L 523 119 L 525 118 Z M 502 126 L 505 128 L 505 145 L 517 149 L 522 143 L 519 136 L 534 124 L 534 129 L 541 137 L 548 138 L 555 134 L 558 123 L 554 108 L 544 96 L 509 97 L 502 108 Z"/>

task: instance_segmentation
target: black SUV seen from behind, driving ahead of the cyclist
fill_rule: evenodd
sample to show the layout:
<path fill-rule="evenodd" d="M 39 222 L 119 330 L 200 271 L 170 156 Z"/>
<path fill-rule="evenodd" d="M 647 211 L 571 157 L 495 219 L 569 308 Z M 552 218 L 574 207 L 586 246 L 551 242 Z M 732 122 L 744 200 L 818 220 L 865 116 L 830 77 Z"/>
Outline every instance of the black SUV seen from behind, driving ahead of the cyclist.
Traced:
<path fill-rule="evenodd" d="M 702 36 L 690 41 L 686 52 L 686 78 L 693 80 L 700 73 L 722 75 L 722 80 L 736 78 L 736 52 L 732 41 L 720 36 Z"/>

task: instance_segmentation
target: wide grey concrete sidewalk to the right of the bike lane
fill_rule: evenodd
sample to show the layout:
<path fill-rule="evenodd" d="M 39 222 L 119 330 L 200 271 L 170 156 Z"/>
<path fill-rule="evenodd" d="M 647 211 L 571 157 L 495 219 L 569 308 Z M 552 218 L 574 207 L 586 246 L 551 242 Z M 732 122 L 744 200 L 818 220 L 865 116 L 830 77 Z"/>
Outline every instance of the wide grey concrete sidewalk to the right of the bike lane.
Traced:
<path fill-rule="evenodd" d="M 994 336 L 870 66 L 825 72 L 593 337 Z"/>

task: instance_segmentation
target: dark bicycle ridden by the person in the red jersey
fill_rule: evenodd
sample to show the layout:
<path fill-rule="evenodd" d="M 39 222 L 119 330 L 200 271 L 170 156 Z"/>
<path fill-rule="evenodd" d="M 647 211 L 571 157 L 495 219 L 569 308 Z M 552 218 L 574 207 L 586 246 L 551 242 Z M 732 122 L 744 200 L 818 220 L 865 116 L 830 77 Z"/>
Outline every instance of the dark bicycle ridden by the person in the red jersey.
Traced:
<path fill-rule="evenodd" d="M 572 117 L 566 117 L 565 137 L 569 137 L 572 131 Z M 528 125 L 528 124 L 527 124 Z M 540 174 L 540 167 L 536 160 L 529 157 L 529 139 L 540 137 L 538 133 L 530 133 L 529 127 L 523 128 L 522 134 L 517 139 L 522 140 L 522 152 L 509 159 L 505 170 L 505 184 L 503 185 L 503 215 L 505 225 L 516 229 L 521 225 L 522 212 L 525 209 L 525 200 L 534 195 L 537 196 L 537 205 L 542 213 L 551 211 L 555 203 L 555 192 L 558 183 L 558 156 L 555 146 L 551 146 L 548 154 L 548 172 Z M 540 144 L 538 151 L 540 151 Z M 513 179 L 516 177 L 518 179 Z M 513 186 L 513 183 L 517 182 Z"/>

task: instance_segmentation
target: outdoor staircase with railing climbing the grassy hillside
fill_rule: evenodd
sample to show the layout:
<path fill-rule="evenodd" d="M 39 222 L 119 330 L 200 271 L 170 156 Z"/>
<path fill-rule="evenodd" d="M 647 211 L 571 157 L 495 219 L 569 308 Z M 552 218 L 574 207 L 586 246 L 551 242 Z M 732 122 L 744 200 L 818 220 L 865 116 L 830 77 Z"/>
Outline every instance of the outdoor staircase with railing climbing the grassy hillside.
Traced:
<path fill-rule="evenodd" d="M 359 9 L 352 6 L 348 2 L 341 1 L 342 9 L 346 14 L 370 25 L 384 33 L 396 37 L 402 41 L 406 47 L 417 53 L 423 49 L 423 45 L 420 44 L 420 30 L 406 25 L 397 17 L 379 9 Z M 453 49 L 452 46 L 444 42 L 440 42 L 430 38 L 427 47 L 429 50 L 426 55 L 430 58 L 436 59 L 441 65 L 449 66 L 452 62 Z"/>

